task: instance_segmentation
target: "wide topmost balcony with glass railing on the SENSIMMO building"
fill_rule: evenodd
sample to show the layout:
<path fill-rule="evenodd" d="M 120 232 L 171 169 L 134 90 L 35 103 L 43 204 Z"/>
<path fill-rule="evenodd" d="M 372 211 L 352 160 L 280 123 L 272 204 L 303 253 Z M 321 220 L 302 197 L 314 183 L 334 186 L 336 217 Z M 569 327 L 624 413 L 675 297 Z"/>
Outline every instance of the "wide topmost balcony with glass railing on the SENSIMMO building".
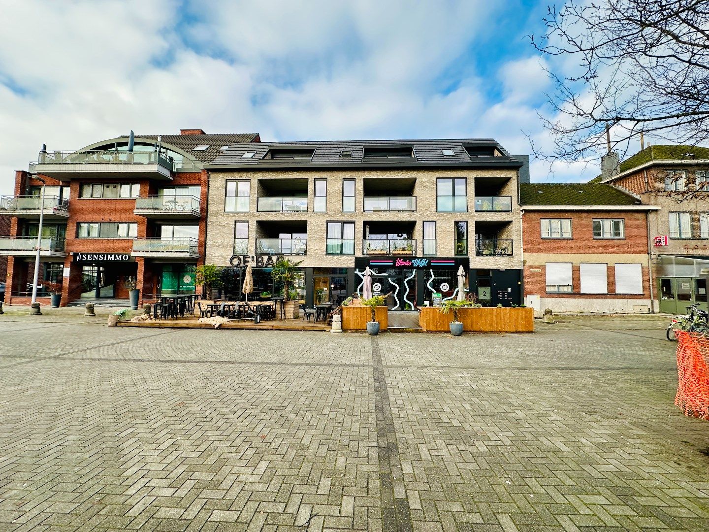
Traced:
<path fill-rule="evenodd" d="M 86 150 L 40 152 L 30 172 L 61 181 L 75 178 L 130 177 L 172 179 L 175 162 L 158 150 Z"/>

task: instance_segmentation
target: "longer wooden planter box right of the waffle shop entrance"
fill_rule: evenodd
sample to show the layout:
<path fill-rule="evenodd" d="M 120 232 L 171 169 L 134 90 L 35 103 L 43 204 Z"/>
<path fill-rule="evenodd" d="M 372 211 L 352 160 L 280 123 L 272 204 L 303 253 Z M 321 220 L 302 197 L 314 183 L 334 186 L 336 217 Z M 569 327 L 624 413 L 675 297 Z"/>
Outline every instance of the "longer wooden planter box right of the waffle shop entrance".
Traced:
<path fill-rule="evenodd" d="M 453 313 L 441 314 L 436 307 L 420 306 L 419 325 L 425 332 L 450 332 Z M 534 309 L 513 309 L 508 306 L 460 309 L 458 320 L 465 333 L 533 333 Z"/>

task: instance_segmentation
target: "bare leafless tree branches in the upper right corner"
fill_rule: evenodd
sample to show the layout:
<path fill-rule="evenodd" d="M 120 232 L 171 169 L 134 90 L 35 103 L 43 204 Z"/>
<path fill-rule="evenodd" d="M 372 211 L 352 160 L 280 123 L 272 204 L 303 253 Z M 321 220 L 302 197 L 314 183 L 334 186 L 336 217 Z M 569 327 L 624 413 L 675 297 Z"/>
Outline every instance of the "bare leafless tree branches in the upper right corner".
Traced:
<path fill-rule="evenodd" d="M 594 1 L 594 0 L 592 0 Z M 627 154 L 644 131 L 698 145 L 709 138 L 709 0 L 569 0 L 549 7 L 532 45 L 549 57 L 549 161 Z M 553 57 L 552 57 L 553 56 Z M 571 70 L 571 73 L 569 73 Z"/>

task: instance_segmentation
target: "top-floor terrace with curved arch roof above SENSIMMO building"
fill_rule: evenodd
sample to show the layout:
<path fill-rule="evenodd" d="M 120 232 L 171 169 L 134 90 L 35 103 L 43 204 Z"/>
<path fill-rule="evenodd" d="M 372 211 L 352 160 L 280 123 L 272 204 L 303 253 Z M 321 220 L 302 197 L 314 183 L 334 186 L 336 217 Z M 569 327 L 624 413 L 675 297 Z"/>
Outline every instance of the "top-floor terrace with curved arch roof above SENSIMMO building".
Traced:
<path fill-rule="evenodd" d="M 60 181 L 79 178 L 132 177 L 172 181 L 174 172 L 199 172 L 202 163 L 189 153 L 153 140 L 118 138 L 89 145 L 81 150 L 42 150 L 30 162 L 30 172 Z"/>

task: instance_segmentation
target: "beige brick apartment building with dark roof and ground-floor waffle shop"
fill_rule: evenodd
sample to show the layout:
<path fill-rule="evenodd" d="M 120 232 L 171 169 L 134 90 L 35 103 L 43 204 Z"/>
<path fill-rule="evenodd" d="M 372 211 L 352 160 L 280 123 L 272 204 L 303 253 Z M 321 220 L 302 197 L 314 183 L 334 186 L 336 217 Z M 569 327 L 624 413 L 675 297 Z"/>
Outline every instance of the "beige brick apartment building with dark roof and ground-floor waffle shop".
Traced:
<path fill-rule="evenodd" d="M 389 306 L 456 295 L 456 272 L 488 304 L 520 304 L 519 171 L 495 140 L 238 143 L 210 172 L 206 262 L 302 261 L 308 305 L 357 292 L 366 267 Z M 238 286 L 238 281 L 234 283 Z"/>

